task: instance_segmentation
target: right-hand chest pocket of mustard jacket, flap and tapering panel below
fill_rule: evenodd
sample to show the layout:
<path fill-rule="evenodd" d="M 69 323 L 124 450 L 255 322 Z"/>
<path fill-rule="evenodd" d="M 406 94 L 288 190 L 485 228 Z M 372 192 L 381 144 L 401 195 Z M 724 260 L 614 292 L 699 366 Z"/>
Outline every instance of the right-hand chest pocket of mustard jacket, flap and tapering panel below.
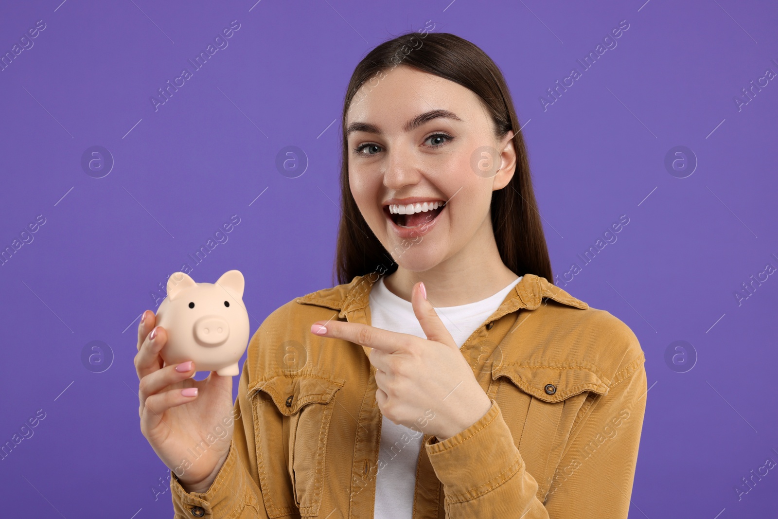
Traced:
<path fill-rule="evenodd" d="M 508 426 L 527 472 L 538 482 L 536 495 L 541 501 L 545 501 L 577 420 L 597 395 L 608 393 L 608 386 L 594 371 L 567 364 L 503 365 L 492 371 L 492 380 L 499 384 L 496 399 L 500 408 L 521 411 L 509 415 Z"/>

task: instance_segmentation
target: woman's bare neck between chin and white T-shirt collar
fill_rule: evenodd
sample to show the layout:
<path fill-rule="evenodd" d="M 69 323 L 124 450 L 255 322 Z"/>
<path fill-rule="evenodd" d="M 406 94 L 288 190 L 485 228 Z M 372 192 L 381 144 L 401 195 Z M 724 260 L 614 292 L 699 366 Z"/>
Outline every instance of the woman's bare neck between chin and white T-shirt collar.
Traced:
<path fill-rule="evenodd" d="M 410 301 L 413 286 L 424 282 L 427 299 L 433 307 L 475 303 L 504 289 L 518 276 L 499 257 L 491 220 L 487 218 L 486 222 L 488 225 L 482 226 L 457 254 L 433 268 L 412 271 L 399 265 L 384 278 L 387 289 Z"/>

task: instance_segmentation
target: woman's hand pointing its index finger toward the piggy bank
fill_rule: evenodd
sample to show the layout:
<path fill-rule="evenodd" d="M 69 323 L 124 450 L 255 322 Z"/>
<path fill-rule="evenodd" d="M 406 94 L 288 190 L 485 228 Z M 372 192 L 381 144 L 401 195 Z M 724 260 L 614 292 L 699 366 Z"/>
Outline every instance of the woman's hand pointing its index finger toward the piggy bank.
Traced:
<path fill-rule="evenodd" d="M 345 321 L 317 321 L 310 331 L 372 348 L 381 413 L 443 441 L 481 419 L 492 402 L 421 285 L 413 286 L 411 303 L 426 339 Z"/>

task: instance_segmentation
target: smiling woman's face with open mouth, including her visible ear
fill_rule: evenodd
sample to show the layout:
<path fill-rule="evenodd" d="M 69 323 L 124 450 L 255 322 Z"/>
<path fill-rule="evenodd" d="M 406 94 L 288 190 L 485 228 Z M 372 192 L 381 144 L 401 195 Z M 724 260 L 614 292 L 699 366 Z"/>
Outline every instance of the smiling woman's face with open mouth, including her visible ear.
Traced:
<path fill-rule="evenodd" d="M 489 206 L 513 176 L 513 132 L 497 141 L 470 89 L 399 65 L 360 87 L 346 131 L 352 195 L 398 265 L 426 271 L 493 242 Z"/>

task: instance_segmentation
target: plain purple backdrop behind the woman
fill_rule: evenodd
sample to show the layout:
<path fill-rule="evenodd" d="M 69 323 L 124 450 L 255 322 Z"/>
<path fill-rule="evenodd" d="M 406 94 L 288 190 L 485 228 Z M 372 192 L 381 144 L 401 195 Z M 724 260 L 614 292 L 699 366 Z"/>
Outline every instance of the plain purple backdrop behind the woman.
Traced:
<path fill-rule="evenodd" d="M 46 413 L 0 461 L 4 516 L 172 515 L 168 471 L 138 424 L 139 314 L 236 214 L 191 275 L 240 269 L 252 334 L 332 285 L 349 76 L 381 41 L 432 20 L 506 75 L 555 274 L 629 217 L 558 284 L 629 324 L 646 352 L 630 517 L 776 517 L 778 468 L 740 500 L 735 486 L 778 461 L 778 275 L 734 296 L 778 267 L 778 79 L 741 110 L 734 101 L 778 72 L 775 2 L 59 2 L 0 7 L 0 54 L 46 23 L 0 72 L 0 249 L 46 219 L 0 266 L 0 444 Z M 150 97 L 235 19 L 229 46 L 155 111 Z M 544 110 L 540 96 L 623 19 L 618 46 Z M 82 169 L 91 146 L 113 157 L 105 177 Z M 284 146 L 307 155 L 302 176 L 276 169 Z M 691 176 L 665 168 L 674 146 L 696 156 Z M 665 360 L 678 340 L 692 345 L 687 368 L 696 352 L 685 373 Z M 82 363 L 91 341 L 113 355 L 102 373 Z"/>

